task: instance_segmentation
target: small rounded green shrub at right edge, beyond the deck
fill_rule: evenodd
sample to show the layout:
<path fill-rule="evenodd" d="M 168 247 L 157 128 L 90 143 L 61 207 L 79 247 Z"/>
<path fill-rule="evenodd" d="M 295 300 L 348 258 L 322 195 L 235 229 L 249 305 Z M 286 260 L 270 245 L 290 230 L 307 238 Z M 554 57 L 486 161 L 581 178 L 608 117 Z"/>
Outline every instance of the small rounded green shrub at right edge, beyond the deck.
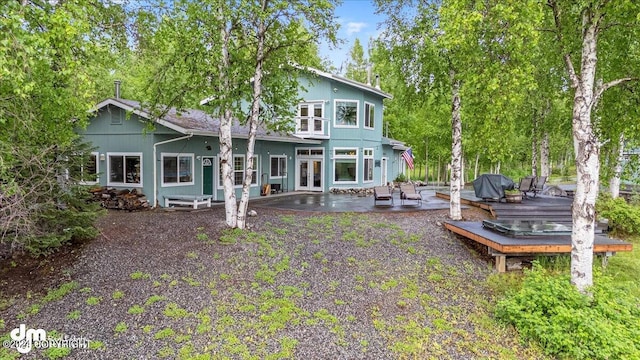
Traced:
<path fill-rule="evenodd" d="M 628 204 L 623 198 L 613 199 L 608 193 L 601 193 L 596 202 L 600 218 L 609 220 L 609 227 L 628 235 L 640 234 L 640 206 Z"/>

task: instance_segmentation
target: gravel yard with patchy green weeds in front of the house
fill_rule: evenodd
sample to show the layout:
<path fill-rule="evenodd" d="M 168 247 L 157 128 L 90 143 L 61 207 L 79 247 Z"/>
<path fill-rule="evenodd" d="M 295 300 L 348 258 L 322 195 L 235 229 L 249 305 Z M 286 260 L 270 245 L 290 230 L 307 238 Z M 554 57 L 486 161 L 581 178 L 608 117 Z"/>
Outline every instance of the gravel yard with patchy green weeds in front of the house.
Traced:
<path fill-rule="evenodd" d="M 490 259 L 444 230 L 447 211 L 257 211 L 245 232 L 221 207 L 109 212 L 65 266 L 45 265 L 45 289 L 72 290 L 5 292 L 0 334 L 90 339 L 71 359 L 538 357 L 490 318 Z"/>

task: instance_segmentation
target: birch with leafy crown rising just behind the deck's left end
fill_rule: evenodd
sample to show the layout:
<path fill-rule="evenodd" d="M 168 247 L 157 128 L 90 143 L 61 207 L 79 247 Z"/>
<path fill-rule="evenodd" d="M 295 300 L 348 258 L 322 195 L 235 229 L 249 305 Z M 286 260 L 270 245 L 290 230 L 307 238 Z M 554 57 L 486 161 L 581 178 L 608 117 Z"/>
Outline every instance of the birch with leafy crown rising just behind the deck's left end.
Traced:
<path fill-rule="evenodd" d="M 486 129 L 486 136 L 474 136 L 495 144 L 484 151 L 495 152 L 498 163 L 509 156 L 510 146 L 504 141 L 510 137 L 504 135 L 514 129 L 514 104 L 521 103 L 533 86 L 525 50 L 537 43 L 536 2 L 378 4 L 389 17 L 384 41 L 396 49 L 394 60 L 405 74 L 408 91 L 425 97 L 442 87 L 450 94 L 450 217 L 460 220 L 463 118 L 469 116 L 467 124 L 471 124 L 465 128 Z"/>

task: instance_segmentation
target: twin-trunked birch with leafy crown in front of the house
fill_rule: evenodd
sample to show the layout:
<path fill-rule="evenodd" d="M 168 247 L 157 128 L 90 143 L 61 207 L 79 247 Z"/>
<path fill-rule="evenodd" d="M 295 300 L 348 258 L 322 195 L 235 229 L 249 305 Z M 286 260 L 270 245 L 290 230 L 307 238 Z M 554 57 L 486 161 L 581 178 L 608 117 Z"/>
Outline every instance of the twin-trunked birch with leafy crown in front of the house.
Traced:
<path fill-rule="evenodd" d="M 298 67 L 292 64 L 320 65 L 318 40 L 335 42 L 334 6 L 332 0 L 183 0 L 164 14 L 154 35 L 152 46 L 163 59 L 152 81 L 154 107 L 160 105 L 161 113 L 206 97 L 207 110 L 220 119 L 220 169 L 230 227 L 246 226 L 257 129 L 292 129 L 298 101 Z M 239 203 L 232 168 L 236 121 L 249 129 Z"/>

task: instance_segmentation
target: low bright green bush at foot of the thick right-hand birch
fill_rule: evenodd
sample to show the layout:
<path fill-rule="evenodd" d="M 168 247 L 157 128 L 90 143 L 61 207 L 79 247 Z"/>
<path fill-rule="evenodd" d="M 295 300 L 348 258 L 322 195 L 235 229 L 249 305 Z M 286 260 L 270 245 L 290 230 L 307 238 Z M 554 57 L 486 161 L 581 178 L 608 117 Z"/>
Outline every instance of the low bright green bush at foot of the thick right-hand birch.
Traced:
<path fill-rule="evenodd" d="M 522 287 L 496 306 L 496 316 L 514 325 L 524 340 L 537 341 L 553 356 L 621 359 L 640 356 L 637 299 L 604 275 L 583 295 L 568 275 L 551 275 L 534 262 Z"/>

